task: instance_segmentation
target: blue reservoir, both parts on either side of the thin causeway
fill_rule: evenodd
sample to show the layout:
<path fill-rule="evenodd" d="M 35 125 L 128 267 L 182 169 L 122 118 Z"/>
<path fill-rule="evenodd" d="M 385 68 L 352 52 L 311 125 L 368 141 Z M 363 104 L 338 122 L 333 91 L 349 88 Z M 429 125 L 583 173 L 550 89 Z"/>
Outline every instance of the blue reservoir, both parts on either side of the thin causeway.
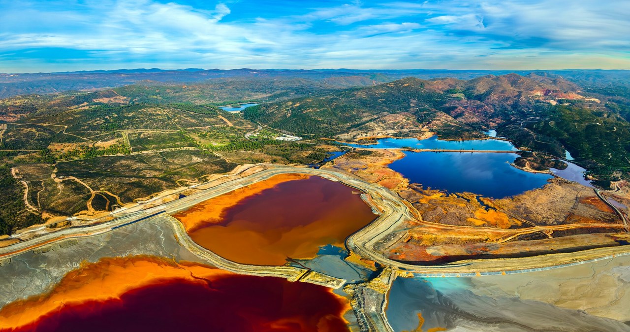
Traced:
<path fill-rule="evenodd" d="M 370 145 L 347 145 L 381 149 L 518 151 L 507 140 L 440 140 L 437 136 L 423 140 L 386 138 Z M 517 157 L 517 154 L 509 152 L 405 152 L 405 157 L 391 163 L 389 168 L 401 173 L 410 183 L 418 183 L 424 188 L 449 193 L 471 192 L 492 198 L 541 188 L 553 177 L 513 167 L 510 163 Z"/>

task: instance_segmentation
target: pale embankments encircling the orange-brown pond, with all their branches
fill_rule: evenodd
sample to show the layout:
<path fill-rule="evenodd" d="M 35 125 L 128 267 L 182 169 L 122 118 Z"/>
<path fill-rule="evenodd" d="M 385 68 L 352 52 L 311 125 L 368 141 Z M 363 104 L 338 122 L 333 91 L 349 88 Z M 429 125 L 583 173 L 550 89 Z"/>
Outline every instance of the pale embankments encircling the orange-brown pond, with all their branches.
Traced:
<path fill-rule="evenodd" d="M 321 176 L 332 181 L 339 181 L 344 185 L 356 188 L 364 192 L 362 198 L 379 212 L 372 222 L 357 231 L 353 232 L 345 240 L 345 247 L 350 255 L 357 255 L 358 258 L 367 261 L 374 261 L 384 266 L 384 271 L 379 277 L 366 280 L 363 283 L 348 283 L 348 280 L 331 277 L 324 273 L 310 268 L 299 266 L 261 266 L 246 265 L 226 260 L 212 251 L 203 248 L 192 241 L 185 226 L 172 217 L 170 214 L 179 210 L 184 210 L 193 205 L 209 200 L 210 198 L 233 192 L 238 188 L 243 188 L 260 181 L 268 180 L 272 176 L 283 174 L 298 174 L 307 176 Z M 221 268 L 229 272 L 243 275 L 256 275 L 268 277 L 286 278 L 292 282 L 308 282 L 322 285 L 331 289 L 348 290 L 350 303 L 360 326 L 377 328 L 379 331 L 391 331 L 391 326 L 385 316 L 387 306 L 387 290 L 396 277 L 480 277 L 491 275 L 507 275 L 514 273 L 527 273 L 533 271 L 552 270 L 567 266 L 581 265 L 593 261 L 607 260 L 617 256 L 630 255 L 630 247 L 616 246 L 606 248 L 595 248 L 574 253 L 552 253 L 546 255 L 528 256 L 522 258 L 490 258 L 481 260 L 461 260 L 444 265 L 411 265 L 391 260 L 380 252 L 375 251 L 372 245 L 389 234 L 389 230 L 398 226 L 405 220 L 416 219 L 415 209 L 410 203 L 403 200 L 396 193 L 380 185 L 367 183 L 356 176 L 341 173 L 339 171 L 294 168 L 289 166 L 271 166 L 270 168 L 257 171 L 248 176 L 227 181 L 211 188 L 193 193 L 180 200 L 166 202 L 155 207 L 151 207 L 140 212 L 121 212 L 120 216 L 108 222 L 85 226 L 71 227 L 31 238 L 21 243 L 0 248 L 0 269 L 11 264 L 11 258 L 27 251 L 37 251 L 40 249 L 46 252 L 53 246 L 61 246 L 66 241 L 77 241 L 79 238 L 102 236 L 107 232 L 120 227 L 127 227 L 142 220 L 153 220 L 159 218 L 168 224 L 173 231 L 176 241 L 186 248 L 190 253 L 200 258 L 212 266 Z M 422 221 L 420 221 L 422 222 Z M 439 226 L 431 222 L 425 222 L 432 226 Z M 369 304 L 365 306 L 365 304 Z"/>

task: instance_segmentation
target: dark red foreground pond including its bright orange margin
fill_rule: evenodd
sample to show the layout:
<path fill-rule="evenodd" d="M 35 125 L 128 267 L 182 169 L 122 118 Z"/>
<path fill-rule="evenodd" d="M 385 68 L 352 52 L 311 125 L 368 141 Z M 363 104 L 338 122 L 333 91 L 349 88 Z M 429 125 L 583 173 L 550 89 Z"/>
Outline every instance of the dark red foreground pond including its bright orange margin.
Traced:
<path fill-rule="evenodd" d="M 327 287 L 133 256 L 87 263 L 0 310 L 0 331 L 348 331 Z"/>

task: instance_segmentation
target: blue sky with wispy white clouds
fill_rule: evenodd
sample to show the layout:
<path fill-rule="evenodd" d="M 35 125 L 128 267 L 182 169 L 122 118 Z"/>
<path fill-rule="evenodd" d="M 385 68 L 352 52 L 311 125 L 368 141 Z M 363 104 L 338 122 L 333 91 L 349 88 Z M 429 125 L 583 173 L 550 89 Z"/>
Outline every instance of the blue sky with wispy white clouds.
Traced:
<path fill-rule="evenodd" d="M 630 69 L 627 0 L 0 0 L 0 72 Z"/>

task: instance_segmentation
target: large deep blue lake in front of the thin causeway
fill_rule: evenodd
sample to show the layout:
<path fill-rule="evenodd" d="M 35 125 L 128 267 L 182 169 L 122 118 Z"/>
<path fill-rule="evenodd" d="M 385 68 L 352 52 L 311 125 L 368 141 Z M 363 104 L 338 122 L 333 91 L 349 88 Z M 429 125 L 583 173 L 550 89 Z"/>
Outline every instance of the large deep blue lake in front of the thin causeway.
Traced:
<path fill-rule="evenodd" d="M 510 163 L 515 153 L 496 152 L 405 152 L 389 165 L 410 183 L 449 193 L 471 192 L 503 198 L 541 188 L 551 175 L 529 173 Z"/>

